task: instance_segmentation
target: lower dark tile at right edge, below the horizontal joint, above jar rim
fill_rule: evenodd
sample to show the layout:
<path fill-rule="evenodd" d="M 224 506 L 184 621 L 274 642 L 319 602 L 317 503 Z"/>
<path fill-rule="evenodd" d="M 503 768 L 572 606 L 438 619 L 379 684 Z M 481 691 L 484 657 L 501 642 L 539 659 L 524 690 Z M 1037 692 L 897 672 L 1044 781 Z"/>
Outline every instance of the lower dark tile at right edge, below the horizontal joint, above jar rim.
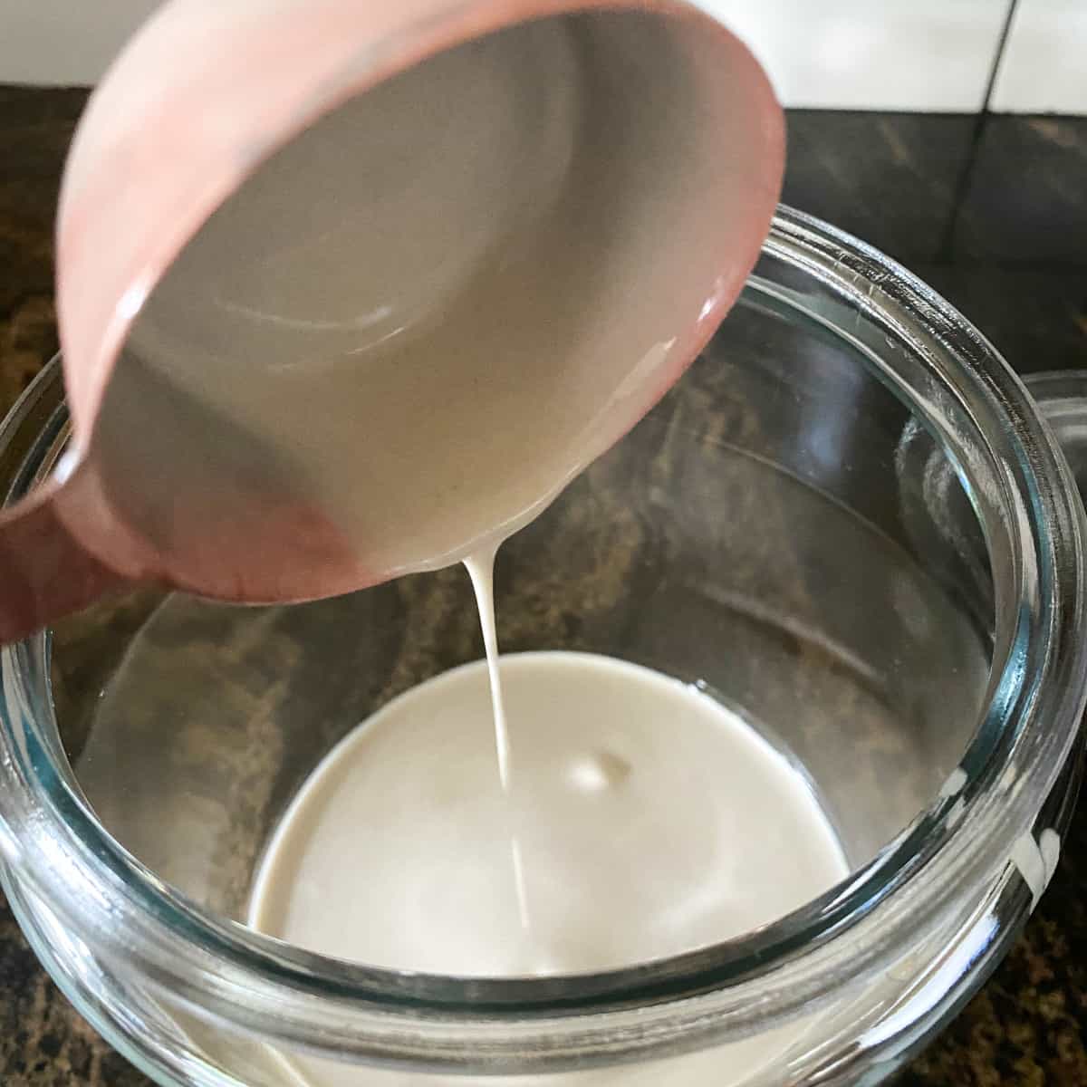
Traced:
<path fill-rule="evenodd" d="M 914 262 L 911 271 L 1021 373 L 1087 367 L 1087 267 Z"/>

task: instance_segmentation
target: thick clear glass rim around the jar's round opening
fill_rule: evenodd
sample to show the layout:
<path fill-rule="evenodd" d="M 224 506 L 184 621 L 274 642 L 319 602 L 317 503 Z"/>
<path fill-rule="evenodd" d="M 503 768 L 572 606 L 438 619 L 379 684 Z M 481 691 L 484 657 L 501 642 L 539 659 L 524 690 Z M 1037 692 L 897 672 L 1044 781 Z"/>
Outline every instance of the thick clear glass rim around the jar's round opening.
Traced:
<path fill-rule="evenodd" d="M 1003 472 L 998 499 L 1019 549 L 1014 607 L 998 614 L 998 626 L 1014 629 L 1007 653 L 994 660 L 989 704 L 978 722 L 978 736 L 999 735 L 1002 747 L 978 748 L 971 773 L 957 771 L 929 811 L 875 861 L 757 933 L 607 973 L 455 978 L 328 959 L 207 914 L 110 837 L 47 735 L 48 645 L 39 637 L 2 654 L 9 709 L 15 705 L 0 737 L 14 754 L 0 790 L 0 847 L 9 863 L 59 912 L 70 911 L 88 939 L 135 955 L 200 1014 L 361 1059 L 460 1067 L 472 1048 L 491 1064 L 516 1059 L 520 1069 L 528 1054 L 533 1071 L 601 1053 L 619 1060 L 691 1048 L 700 1038 L 739 1036 L 787 1019 L 840 984 L 844 970 L 871 966 L 889 941 L 938 915 L 957 887 L 999 872 L 1072 748 L 1087 689 L 1083 514 L 1067 467 L 997 352 L 910 273 L 786 208 L 764 252 L 815 277 L 837 302 L 820 312 L 755 278 L 764 298 L 847 338 L 836 316 L 863 311 L 880 335 L 917 354 L 977 422 Z M 871 345 L 854 346 L 879 367 Z M 930 397 L 905 388 L 901 375 L 884 370 L 882 376 L 937 429 L 944 425 Z M 51 379 L 59 380 L 55 371 Z M 25 414 L 28 403 L 13 415 Z M 982 742 L 976 736 L 972 750 Z M 18 805 L 33 821 L 13 815 Z"/>

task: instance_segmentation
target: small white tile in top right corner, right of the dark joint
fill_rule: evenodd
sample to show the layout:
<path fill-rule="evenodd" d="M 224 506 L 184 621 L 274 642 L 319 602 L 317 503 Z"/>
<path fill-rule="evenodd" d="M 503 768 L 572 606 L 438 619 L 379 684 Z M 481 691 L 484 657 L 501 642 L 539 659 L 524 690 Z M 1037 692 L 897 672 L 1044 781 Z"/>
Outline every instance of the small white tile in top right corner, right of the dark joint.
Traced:
<path fill-rule="evenodd" d="M 1087 114 L 1087 0 L 1020 0 L 990 108 Z"/>

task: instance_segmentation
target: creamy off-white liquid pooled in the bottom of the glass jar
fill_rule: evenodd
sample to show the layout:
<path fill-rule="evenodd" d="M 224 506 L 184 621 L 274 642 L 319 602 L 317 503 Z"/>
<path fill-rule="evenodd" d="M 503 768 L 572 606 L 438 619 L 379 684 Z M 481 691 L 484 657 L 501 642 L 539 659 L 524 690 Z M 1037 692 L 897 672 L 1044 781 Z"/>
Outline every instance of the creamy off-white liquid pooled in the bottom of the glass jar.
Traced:
<path fill-rule="evenodd" d="M 698 689 L 585 653 L 514 654 L 500 670 L 513 810 L 485 662 L 427 680 L 311 774 L 267 849 L 250 924 L 390 969 L 580 973 L 748 933 L 847 873 L 802 774 Z M 738 1082 L 797 1033 L 671 1062 L 667 1082 Z M 415 1082 L 311 1059 L 296 1072 L 313 1087 Z M 629 1067 L 546 1082 L 583 1080 L 640 1082 Z"/>

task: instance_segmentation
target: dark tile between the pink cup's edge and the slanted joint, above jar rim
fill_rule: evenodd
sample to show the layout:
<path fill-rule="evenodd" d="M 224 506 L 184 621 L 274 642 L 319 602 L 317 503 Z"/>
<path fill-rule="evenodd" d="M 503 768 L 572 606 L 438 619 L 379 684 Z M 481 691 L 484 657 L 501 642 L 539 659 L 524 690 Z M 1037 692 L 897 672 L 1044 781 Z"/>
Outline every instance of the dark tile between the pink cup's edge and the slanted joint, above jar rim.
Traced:
<path fill-rule="evenodd" d="M 899 260 L 934 260 L 975 118 L 790 110 L 783 199 Z"/>

